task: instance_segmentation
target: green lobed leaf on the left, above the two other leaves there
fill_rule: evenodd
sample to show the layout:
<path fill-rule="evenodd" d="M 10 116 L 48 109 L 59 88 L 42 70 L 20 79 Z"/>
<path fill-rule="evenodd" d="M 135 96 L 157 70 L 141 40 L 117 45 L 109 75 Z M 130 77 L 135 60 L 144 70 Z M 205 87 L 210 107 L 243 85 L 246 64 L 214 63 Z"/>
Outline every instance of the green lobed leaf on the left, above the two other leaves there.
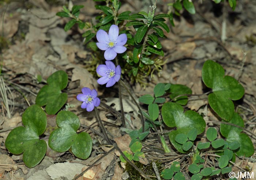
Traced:
<path fill-rule="evenodd" d="M 59 70 L 48 77 L 47 84 L 38 92 L 35 103 L 39 106 L 46 105 L 47 114 L 56 114 L 68 99 L 67 93 L 61 92 L 68 85 L 68 75 Z"/>

